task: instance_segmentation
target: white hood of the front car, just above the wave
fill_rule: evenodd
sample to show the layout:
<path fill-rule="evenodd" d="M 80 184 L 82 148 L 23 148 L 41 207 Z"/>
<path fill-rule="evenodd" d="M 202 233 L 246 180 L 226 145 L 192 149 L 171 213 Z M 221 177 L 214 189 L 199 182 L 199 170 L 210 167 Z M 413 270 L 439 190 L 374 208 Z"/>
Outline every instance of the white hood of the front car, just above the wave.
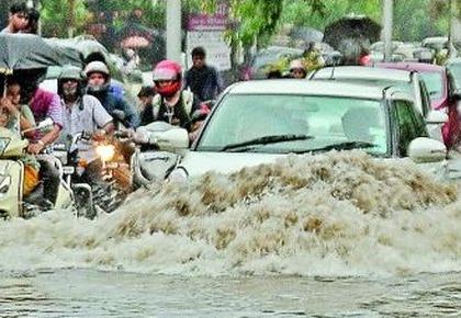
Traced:
<path fill-rule="evenodd" d="M 209 171 L 232 173 L 246 167 L 271 163 L 277 158 L 284 156 L 286 155 L 188 151 L 178 167 L 184 168 L 190 177 L 200 175 Z"/>

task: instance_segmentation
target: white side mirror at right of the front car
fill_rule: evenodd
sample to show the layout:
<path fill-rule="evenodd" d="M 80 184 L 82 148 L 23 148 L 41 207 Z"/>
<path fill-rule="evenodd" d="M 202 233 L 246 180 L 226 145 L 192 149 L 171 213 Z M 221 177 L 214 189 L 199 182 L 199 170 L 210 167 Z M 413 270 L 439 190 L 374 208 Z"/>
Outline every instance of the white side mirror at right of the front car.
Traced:
<path fill-rule="evenodd" d="M 407 150 L 409 159 L 417 163 L 438 162 L 447 157 L 443 143 L 425 137 L 413 139 Z"/>

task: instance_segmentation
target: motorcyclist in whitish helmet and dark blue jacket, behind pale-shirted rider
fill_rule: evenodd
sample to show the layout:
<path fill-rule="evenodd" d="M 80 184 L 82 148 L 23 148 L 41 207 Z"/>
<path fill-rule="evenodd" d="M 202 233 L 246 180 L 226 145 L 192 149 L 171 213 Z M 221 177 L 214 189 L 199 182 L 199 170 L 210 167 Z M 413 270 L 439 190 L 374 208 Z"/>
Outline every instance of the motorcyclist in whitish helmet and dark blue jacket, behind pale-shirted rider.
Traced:
<path fill-rule="evenodd" d="M 91 61 L 85 68 L 85 73 L 88 78 L 87 93 L 95 96 L 112 117 L 117 117 L 115 111 L 122 111 L 127 128 L 136 128 L 139 125 L 139 117 L 134 107 L 109 91 L 111 76 L 105 64 Z"/>

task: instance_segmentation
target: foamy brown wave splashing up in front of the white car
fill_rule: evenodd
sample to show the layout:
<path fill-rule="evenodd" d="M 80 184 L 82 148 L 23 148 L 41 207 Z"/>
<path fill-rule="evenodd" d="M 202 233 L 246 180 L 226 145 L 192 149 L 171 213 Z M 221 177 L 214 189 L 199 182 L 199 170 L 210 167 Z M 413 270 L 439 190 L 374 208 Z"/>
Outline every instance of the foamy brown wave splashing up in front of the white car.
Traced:
<path fill-rule="evenodd" d="M 461 270 L 458 186 L 361 151 L 289 156 L 140 190 L 98 220 L 0 223 L 0 269 L 188 275 L 392 275 Z"/>

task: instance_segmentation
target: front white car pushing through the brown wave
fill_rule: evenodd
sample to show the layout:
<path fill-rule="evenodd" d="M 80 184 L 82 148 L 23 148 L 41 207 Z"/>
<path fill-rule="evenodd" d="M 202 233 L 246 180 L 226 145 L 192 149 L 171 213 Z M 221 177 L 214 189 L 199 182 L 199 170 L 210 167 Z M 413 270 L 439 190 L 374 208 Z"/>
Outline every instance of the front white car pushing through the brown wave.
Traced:
<path fill-rule="evenodd" d="M 228 173 L 286 154 L 331 149 L 409 156 L 439 167 L 446 147 L 427 136 L 413 96 L 396 88 L 294 79 L 238 82 L 222 94 L 169 178 Z M 187 145 L 181 138 L 187 134 L 162 143 Z"/>

